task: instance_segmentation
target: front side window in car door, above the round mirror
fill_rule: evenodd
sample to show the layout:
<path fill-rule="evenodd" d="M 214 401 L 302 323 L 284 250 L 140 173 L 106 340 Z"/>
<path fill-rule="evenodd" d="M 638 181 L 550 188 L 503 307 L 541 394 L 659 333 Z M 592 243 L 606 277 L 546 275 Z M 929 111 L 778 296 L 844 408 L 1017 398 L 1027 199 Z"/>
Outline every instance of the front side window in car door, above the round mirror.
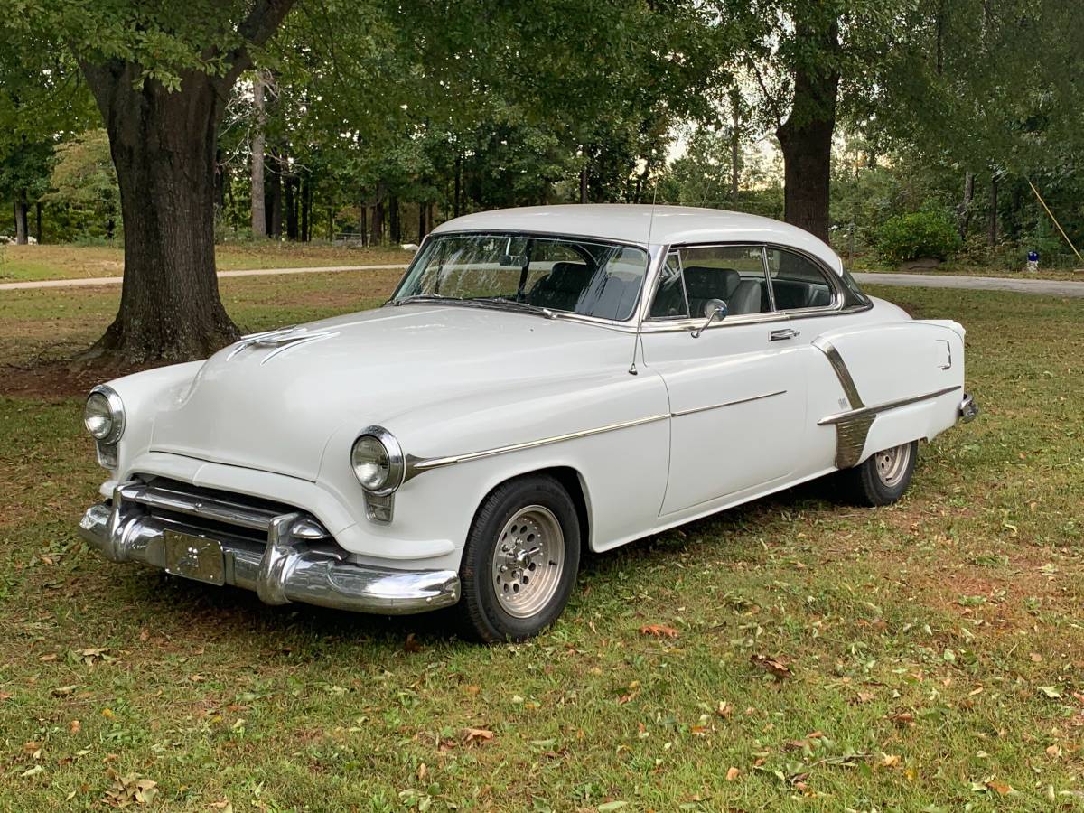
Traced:
<path fill-rule="evenodd" d="M 707 246 L 681 250 L 685 295 L 692 317 L 710 299 L 726 302 L 732 315 L 770 313 L 772 300 L 759 246 Z"/>

